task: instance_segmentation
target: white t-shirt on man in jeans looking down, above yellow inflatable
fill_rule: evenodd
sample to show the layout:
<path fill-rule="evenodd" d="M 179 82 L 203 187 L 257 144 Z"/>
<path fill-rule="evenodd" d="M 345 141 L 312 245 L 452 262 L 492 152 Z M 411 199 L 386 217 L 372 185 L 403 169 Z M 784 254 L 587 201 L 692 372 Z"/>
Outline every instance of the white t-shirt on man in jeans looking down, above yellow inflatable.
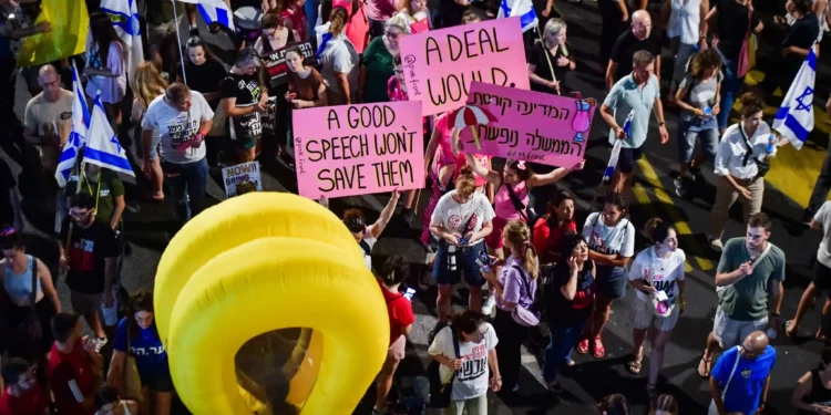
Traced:
<path fill-rule="evenodd" d="M 143 129 L 158 132 L 161 142 L 158 154 L 163 160 L 175 164 L 198 162 L 205 157 L 205 144 L 197 148 L 187 147 L 181 152 L 178 147 L 191 139 L 191 136 L 199 131 L 199 125 L 214 118 L 205 97 L 196 91 L 191 91 L 191 110 L 181 112 L 164 101 L 165 95 L 160 95 L 147 107 L 142 121 Z"/>

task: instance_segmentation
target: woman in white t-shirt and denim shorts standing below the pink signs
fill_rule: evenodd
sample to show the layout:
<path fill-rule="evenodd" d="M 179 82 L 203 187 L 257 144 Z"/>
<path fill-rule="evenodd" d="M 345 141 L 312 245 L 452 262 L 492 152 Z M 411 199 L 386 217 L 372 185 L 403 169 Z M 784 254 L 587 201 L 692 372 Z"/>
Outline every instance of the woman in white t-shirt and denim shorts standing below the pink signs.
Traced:
<path fill-rule="evenodd" d="M 430 219 L 430 231 L 441 239 L 433 263 L 433 279 L 439 284 L 439 323 L 430 340 L 447 324 L 453 286 L 461 282 L 462 272 L 470 287 L 470 309 L 481 309 L 485 281 L 476 260 L 485 253 L 483 242 L 493 230 L 493 216 L 488 198 L 476 191 L 473 172 L 469 166 L 462 168 L 455 189 L 439 199 Z"/>

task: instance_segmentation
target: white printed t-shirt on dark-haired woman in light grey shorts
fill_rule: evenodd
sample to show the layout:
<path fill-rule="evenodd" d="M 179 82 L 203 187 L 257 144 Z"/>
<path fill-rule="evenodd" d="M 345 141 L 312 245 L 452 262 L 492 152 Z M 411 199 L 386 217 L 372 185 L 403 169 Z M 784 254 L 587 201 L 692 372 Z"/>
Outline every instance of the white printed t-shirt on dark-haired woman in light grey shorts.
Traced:
<path fill-rule="evenodd" d="M 671 301 L 678 295 L 678 284 L 675 281 L 684 281 L 684 263 L 687 256 L 684 250 L 676 249 L 669 258 L 658 258 L 655 247 L 646 248 L 638 252 L 629 268 L 629 281 L 644 280 L 649 282 L 658 291 L 664 291 Z M 637 290 L 638 299 L 649 301 L 649 295 Z"/>

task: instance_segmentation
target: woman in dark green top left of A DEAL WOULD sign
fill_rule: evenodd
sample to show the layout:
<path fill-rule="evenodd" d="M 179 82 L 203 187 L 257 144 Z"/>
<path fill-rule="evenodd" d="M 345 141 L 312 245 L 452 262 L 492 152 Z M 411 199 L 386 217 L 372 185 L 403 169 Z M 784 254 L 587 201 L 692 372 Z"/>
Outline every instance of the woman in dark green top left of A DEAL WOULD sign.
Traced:
<path fill-rule="evenodd" d="M 396 15 L 384 23 L 382 37 L 369 42 L 361 58 L 358 102 L 373 103 L 390 101 L 387 95 L 387 82 L 394 73 L 392 56 L 399 53 L 399 38 L 407 34 L 404 18 Z"/>

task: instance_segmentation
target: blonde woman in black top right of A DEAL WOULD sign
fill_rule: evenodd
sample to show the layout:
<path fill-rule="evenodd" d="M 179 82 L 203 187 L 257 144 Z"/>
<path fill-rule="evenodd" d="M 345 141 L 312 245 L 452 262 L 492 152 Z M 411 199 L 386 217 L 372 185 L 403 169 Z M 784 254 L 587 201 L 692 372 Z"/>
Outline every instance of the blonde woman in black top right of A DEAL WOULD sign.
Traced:
<path fill-rule="evenodd" d="M 565 21 L 551 19 L 545 23 L 543 39 L 534 43 L 529 54 L 529 76 L 531 91 L 550 94 L 567 93 L 565 74 L 574 71 L 576 64 L 565 44 Z M 554 73 L 552 74 L 552 70 Z"/>

